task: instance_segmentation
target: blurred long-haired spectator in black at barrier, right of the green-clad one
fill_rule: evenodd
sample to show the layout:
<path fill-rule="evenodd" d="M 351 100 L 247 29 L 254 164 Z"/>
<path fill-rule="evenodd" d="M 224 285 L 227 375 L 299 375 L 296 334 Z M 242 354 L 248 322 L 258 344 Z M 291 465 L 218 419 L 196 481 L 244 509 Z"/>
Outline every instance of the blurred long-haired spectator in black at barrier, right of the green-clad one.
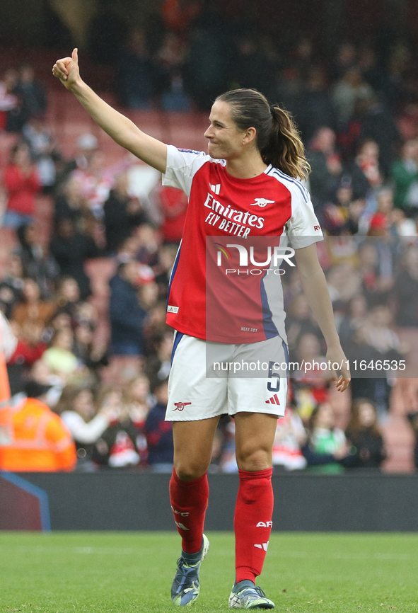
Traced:
<path fill-rule="evenodd" d="M 356 399 L 345 431 L 350 449 L 351 469 L 380 469 L 386 458 L 383 436 L 378 427 L 376 407 L 367 399 Z"/>

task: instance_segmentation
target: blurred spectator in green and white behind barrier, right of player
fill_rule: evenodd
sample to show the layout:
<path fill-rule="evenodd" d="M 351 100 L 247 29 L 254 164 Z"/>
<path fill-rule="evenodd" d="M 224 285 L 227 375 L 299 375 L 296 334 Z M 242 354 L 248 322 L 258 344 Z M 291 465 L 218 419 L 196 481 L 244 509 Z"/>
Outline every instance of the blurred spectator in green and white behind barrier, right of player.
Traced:
<path fill-rule="evenodd" d="M 309 419 L 308 440 L 302 447 L 311 471 L 339 474 L 344 471 L 344 459 L 349 447 L 344 432 L 335 428 L 335 413 L 330 403 L 313 409 Z"/>

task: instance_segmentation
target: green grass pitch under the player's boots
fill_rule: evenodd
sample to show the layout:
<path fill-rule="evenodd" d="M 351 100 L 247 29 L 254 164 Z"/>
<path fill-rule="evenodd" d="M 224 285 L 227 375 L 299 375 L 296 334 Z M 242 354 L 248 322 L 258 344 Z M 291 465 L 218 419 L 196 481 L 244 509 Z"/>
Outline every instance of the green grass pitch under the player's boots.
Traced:
<path fill-rule="evenodd" d="M 196 613 L 228 610 L 233 534 L 208 533 Z M 162 613 L 178 535 L 0 532 L 0 612 Z M 278 612 L 418 612 L 417 534 L 272 534 L 258 583 Z"/>

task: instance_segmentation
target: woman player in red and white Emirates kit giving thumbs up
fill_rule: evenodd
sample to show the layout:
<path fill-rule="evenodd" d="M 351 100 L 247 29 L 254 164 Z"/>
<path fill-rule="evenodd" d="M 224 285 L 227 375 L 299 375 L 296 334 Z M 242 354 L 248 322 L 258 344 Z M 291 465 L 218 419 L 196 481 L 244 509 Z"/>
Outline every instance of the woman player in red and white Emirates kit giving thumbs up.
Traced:
<path fill-rule="evenodd" d="M 207 468 L 219 416 L 230 413 L 236 423 L 240 487 L 235 515 L 236 583 L 229 605 L 238 609 L 272 609 L 274 603 L 255 587 L 255 578 L 262 571 L 272 527 L 272 445 L 277 417 L 283 414 L 286 406 L 286 377 L 277 372 L 271 372 L 269 378 L 206 377 L 206 350 L 223 353 L 221 361 L 224 362 L 233 355 L 238 344 L 243 351 L 235 355 L 239 360 L 244 359 L 246 350 L 248 353 L 252 350 L 269 353 L 271 349 L 275 359 L 270 357 L 269 361 L 273 365 L 277 359 L 281 364 L 286 362 L 286 345 L 281 340 L 285 338 L 284 330 L 281 329 L 283 336 L 277 330 L 277 326 L 284 328 L 281 287 L 277 290 L 279 282 L 274 282 L 271 275 L 265 284 L 261 284 L 258 277 L 257 288 L 253 285 L 257 277 L 248 275 L 250 292 L 240 292 L 239 282 L 237 286 L 235 281 L 228 284 L 223 273 L 219 273 L 216 281 L 221 285 L 215 284 L 208 294 L 211 309 L 206 321 L 204 314 L 210 300 L 207 303 L 204 248 L 206 238 L 216 241 L 221 235 L 235 244 L 239 236 L 243 242 L 251 234 L 251 238 L 258 236 L 260 239 L 267 235 L 271 250 L 272 237 L 280 237 L 288 225 L 301 283 L 327 342 L 327 359 L 342 365 L 337 389 L 342 391 L 347 387 L 349 371 L 335 331 L 323 270 L 316 256 L 315 241 L 320 240 L 322 234 L 308 193 L 295 180 L 298 176 L 306 177 L 308 171 L 303 145 L 287 113 L 269 107 L 258 92 L 238 90 L 220 96 L 211 109 L 209 128 L 205 132 L 209 156 L 180 151 L 144 134 L 96 96 L 79 76 L 77 50 L 71 57 L 54 64 L 53 73 L 118 144 L 165 173 L 166 185 L 182 188 L 189 195 L 182 247 L 171 278 L 167 318 L 170 326 L 177 330 L 166 415 L 166 420 L 173 421 L 174 437 L 170 503 L 182 537 L 182 555 L 171 592 L 173 602 L 188 605 L 199 595 L 199 567 L 209 547 L 203 534 L 209 495 Z M 235 219 L 226 215 L 234 215 Z M 236 234 L 226 234 L 228 231 Z M 279 239 L 276 247 L 277 242 Z M 212 246 L 211 256 L 216 253 L 216 245 L 212 243 Z M 245 246 L 233 249 L 234 268 L 238 266 L 238 270 L 236 252 L 242 248 Z M 214 268 L 212 272 L 217 270 L 219 257 L 218 260 L 216 257 L 214 261 L 208 259 Z M 270 287 L 272 282 L 273 287 Z M 266 286 L 270 293 L 279 292 L 277 304 L 281 305 L 281 310 L 277 314 L 277 326 L 269 305 L 266 304 L 266 311 L 263 311 L 261 304 L 267 296 Z M 249 325 L 254 323 L 254 318 L 246 321 L 247 305 L 255 309 L 256 327 Z M 242 317 L 236 312 L 241 307 L 245 307 Z M 277 309 L 273 303 L 272 308 Z M 211 311 L 215 316 L 211 316 Z M 267 332 L 262 317 L 264 312 L 268 320 Z M 205 343 L 206 338 L 209 343 Z M 268 362 L 265 363 L 268 366 Z M 260 374 L 264 377 L 267 373 Z M 263 509 L 262 517 L 260 508 Z"/>

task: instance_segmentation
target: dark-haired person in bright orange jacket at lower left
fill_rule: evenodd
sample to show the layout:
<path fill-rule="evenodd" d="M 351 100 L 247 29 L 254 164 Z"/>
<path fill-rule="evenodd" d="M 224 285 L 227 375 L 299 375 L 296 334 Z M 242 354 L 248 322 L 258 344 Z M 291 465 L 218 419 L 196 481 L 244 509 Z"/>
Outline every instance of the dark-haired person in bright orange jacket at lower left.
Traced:
<path fill-rule="evenodd" d="M 28 382 L 28 397 L 10 411 L 8 444 L 0 444 L 0 470 L 11 472 L 72 471 L 76 445 L 62 419 L 40 400 L 50 386 Z"/>

